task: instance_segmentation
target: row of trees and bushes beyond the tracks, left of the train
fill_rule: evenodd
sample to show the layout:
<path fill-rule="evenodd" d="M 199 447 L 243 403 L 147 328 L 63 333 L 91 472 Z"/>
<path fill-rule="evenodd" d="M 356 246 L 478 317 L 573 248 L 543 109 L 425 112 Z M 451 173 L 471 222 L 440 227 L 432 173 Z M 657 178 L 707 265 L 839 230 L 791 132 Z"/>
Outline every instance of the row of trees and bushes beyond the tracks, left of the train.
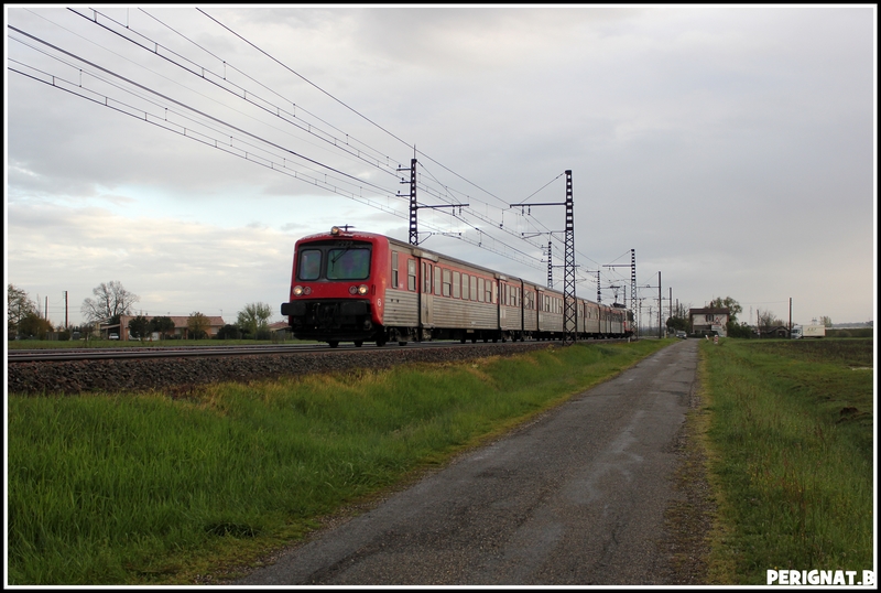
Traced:
<path fill-rule="evenodd" d="M 128 291 L 121 282 L 101 282 L 93 289 L 93 296 L 85 299 L 80 313 L 86 322 L 81 325 L 65 327 L 54 325 L 52 321 L 40 314 L 37 304 L 31 300 L 26 291 L 7 285 L 7 326 L 8 338 L 34 337 L 45 339 L 53 332 L 58 339 L 70 339 L 74 332 L 80 337 L 89 338 L 97 334 L 99 325 L 119 325 L 123 315 L 133 315 L 134 304 L 140 296 Z M 220 339 L 270 339 L 269 328 L 272 308 L 262 302 L 248 303 L 238 312 L 235 324 L 226 324 L 218 330 L 215 337 Z M 137 314 L 129 320 L 127 328 L 132 337 L 151 339 L 153 335 L 167 338 L 175 335 L 174 320 L 167 315 L 148 317 Z M 184 327 L 186 337 L 206 338 L 210 335 L 210 320 L 199 311 L 187 316 Z"/>

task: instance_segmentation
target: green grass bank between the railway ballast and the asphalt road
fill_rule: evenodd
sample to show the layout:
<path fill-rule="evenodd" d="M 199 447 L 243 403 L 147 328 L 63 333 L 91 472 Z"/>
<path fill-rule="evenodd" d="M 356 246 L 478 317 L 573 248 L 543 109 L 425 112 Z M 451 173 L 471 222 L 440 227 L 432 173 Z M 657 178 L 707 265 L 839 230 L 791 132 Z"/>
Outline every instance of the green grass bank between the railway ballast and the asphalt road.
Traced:
<path fill-rule="evenodd" d="M 10 393 L 9 583 L 230 579 L 323 517 L 670 344 L 224 384 L 177 399 Z"/>

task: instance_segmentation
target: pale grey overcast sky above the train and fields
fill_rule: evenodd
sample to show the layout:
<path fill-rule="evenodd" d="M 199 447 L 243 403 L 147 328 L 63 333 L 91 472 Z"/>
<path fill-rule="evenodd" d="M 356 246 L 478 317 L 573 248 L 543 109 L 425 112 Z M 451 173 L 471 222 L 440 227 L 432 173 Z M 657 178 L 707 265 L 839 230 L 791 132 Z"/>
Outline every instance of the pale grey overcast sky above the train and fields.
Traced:
<path fill-rule="evenodd" d="M 643 323 L 659 276 L 874 319 L 874 6 L 4 8 L 4 270 L 56 325 L 112 280 L 281 320 L 298 238 L 407 240 L 414 154 L 422 204 L 469 204 L 420 209 L 426 249 L 545 284 L 564 208 L 510 204 L 570 170 L 579 296 L 630 304 L 634 249 Z"/>

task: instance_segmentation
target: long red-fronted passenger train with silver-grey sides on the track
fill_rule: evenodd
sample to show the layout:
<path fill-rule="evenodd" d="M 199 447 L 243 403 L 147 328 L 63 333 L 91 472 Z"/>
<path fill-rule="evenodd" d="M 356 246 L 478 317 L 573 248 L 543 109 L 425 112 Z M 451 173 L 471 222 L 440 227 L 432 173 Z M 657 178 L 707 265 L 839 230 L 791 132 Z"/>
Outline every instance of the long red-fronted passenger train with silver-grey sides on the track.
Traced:
<path fill-rule="evenodd" d="M 304 237 L 282 315 L 298 339 L 465 343 L 563 338 L 563 293 L 373 233 Z M 577 299 L 577 337 L 631 335 L 622 306 Z"/>

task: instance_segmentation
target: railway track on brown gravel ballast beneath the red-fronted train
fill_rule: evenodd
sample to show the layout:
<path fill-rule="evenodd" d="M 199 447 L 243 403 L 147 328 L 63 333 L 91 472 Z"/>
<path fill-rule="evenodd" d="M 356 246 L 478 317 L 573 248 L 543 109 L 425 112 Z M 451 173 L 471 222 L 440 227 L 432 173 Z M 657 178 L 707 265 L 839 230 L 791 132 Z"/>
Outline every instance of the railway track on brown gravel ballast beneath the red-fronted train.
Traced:
<path fill-rule="evenodd" d="M 346 344 L 337 348 L 325 344 L 298 344 L 96 348 L 87 352 L 18 351 L 7 356 L 7 389 L 11 395 L 146 390 L 180 393 L 213 382 L 248 382 L 316 373 L 348 373 L 358 368 L 376 370 L 401 364 L 455 363 L 488 356 L 512 356 L 559 345 L 561 342 L 526 341 L 476 344 L 426 342 L 382 347 Z"/>

